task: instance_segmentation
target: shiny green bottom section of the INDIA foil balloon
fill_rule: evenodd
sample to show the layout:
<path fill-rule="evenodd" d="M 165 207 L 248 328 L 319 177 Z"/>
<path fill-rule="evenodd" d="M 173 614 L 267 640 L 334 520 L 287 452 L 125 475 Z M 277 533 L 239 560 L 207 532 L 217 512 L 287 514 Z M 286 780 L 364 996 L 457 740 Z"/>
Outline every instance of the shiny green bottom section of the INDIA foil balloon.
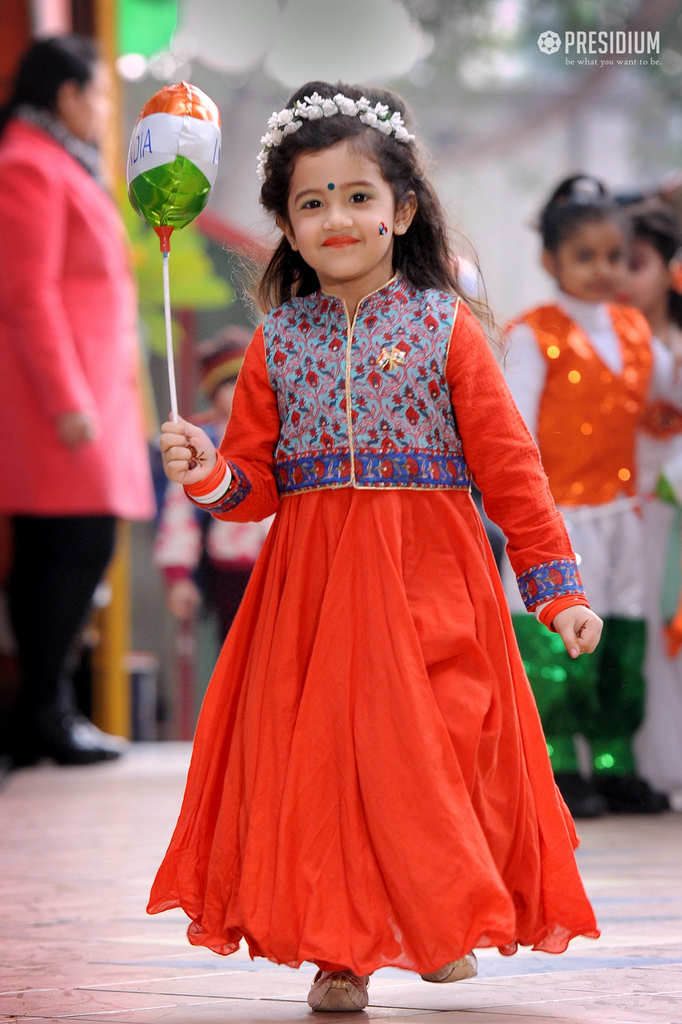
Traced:
<path fill-rule="evenodd" d="M 186 157 L 143 171 L 128 187 L 134 209 L 153 227 L 184 227 L 208 202 L 211 182 Z"/>

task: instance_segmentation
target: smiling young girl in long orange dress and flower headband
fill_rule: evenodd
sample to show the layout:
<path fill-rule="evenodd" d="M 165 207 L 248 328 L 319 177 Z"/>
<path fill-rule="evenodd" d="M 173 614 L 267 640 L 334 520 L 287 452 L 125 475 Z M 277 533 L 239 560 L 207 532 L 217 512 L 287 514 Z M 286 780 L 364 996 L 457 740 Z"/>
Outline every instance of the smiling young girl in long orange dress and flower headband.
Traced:
<path fill-rule="evenodd" d="M 473 478 L 571 656 L 601 622 L 404 119 L 391 92 L 324 82 L 272 116 L 269 311 L 220 451 L 183 421 L 162 434 L 195 502 L 276 515 L 148 909 L 181 906 L 220 953 L 316 964 L 318 1011 L 364 1009 L 382 967 L 450 982 L 474 947 L 598 936 Z"/>

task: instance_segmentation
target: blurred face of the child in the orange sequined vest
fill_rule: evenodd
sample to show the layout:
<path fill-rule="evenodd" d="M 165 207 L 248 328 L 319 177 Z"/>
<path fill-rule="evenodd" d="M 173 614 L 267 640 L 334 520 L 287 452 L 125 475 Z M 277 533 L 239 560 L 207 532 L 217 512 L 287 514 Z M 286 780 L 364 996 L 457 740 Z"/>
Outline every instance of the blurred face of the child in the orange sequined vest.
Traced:
<path fill-rule="evenodd" d="M 623 285 L 625 236 L 613 220 L 581 224 L 556 252 L 544 250 L 543 266 L 567 295 L 585 302 L 608 302 Z"/>

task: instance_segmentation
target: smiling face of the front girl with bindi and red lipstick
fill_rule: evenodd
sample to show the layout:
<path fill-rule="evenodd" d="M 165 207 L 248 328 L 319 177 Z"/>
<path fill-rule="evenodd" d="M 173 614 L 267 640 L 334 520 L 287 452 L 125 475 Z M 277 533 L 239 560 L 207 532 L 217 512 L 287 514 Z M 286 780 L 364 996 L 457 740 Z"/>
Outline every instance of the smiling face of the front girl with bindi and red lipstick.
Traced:
<path fill-rule="evenodd" d="M 323 290 L 367 282 L 372 291 L 392 278 L 393 236 L 408 230 L 416 208 L 412 197 L 396 210 L 378 165 L 344 141 L 297 159 L 288 222 L 279 225 Z"/>

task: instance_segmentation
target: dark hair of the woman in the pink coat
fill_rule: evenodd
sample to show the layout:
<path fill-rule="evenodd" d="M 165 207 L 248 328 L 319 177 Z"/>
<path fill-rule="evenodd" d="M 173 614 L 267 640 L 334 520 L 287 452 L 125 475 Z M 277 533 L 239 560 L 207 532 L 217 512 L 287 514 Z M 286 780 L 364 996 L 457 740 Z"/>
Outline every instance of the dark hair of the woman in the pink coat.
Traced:
<path fill-rule="evenodd" d="M 82 89 L 92 79 L 98 59 L 96 44 L 85 36 L 34 43 L 22 57 L 8 102 L 0 109 L 0 135 L 20 103 L 53 112 L 59 86 L 76 82 Z"/>

